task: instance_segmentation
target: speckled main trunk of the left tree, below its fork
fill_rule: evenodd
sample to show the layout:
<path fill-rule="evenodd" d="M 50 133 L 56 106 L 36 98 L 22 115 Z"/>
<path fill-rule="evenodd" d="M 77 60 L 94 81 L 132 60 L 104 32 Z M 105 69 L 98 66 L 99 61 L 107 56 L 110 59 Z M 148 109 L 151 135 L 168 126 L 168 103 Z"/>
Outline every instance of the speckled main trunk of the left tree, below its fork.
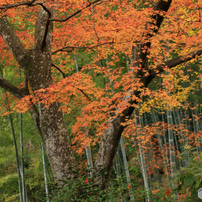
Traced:
<path fill-rule="evenodd" d="M 50 53 L 31 50 L 26 55 L 24 66 L 27 67 L 25 74 L 33 91 L 49 87 L 52 84 Z M 39 128 L 55 178 L 64 180 L 65 175 L 72 177 L 70 168 L 76 168 L 76 161 L 71 150 L 62 112 L 59 111 L 59 104 L 52 103 L 47 108 L 39 103 L 38 110 Z"/>

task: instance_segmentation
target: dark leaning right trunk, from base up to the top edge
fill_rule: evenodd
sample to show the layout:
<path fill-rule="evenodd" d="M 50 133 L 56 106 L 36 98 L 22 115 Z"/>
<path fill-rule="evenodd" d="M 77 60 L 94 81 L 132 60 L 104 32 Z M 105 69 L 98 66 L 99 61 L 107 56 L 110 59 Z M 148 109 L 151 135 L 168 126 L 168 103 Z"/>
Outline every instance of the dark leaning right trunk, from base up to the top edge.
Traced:
<path fill-rule="evenodd" d="M 155 10 L 161 10 L 167 12 L 172 0 L 164 1 L 160 0 L 156 6 L 154 7 Z M 158 32 L 158 29 L 161 26 L 161 23 L 164 19 L 163 15 L 155 14 L 151 16 L 155 20 L 155 26 L 153 32 L 144 36 L 145 38 L 149 39 Z M 152 81 L 152 79 L 155 77 L 156 74 L 150 75 L 148 77 L 145 77 L 144 69 L 147 68 L 147 52 L 143 53 L 142 50 L 149 49 L 151 46 L 150 42 L 147 42 L 145 44 L 137 44 L 132 49 L 132 58 L 131 58 L 131 67 L 139 67 L 139 70 L 134 73 L 134 81 L 136 82 L 136 79 L 139 79 L 137 82 L 142 82 L 143 87 L 147 87 L 148 84 Z M 126 118 L 129 118 L 131 114 L 133 113 L 134 107 L 131 105 L 134 103 L 137 103 L 135 100 L 133 100 L 133 95 L 136 97 L 139 97 L 140 92 L 137 90 L 134 90 L 131 92 L 128 92 L 128 95 L 125 97 L 125 100 L 127 104 L 129 104 L 129 107 L 127 107 L 121 114 L 119 113 L 119 109 L 117 109 L 116 116 L 112 118 L 108 125 L 109 128 L 104 132 L 104 134 L 101 137 L 101 143 L 98 151 L 98 156 L 95 162 L 96 172 L 98 172 L 97 178 L 95 180 L 96 184 L 101 185 L 101 187 L 104 189 L 107 186 L 107 183 L 109 181 L 110 177 L 110 171 L 112 170 L 112 166 L 114 163 L 114 158 L 118 149 L 118 145 L 120 142 L 121 134 L 123 132 L 123 123 L 125 122 Z M 104 175 L 99 175 L 100 170 L 103 171 Z"/>

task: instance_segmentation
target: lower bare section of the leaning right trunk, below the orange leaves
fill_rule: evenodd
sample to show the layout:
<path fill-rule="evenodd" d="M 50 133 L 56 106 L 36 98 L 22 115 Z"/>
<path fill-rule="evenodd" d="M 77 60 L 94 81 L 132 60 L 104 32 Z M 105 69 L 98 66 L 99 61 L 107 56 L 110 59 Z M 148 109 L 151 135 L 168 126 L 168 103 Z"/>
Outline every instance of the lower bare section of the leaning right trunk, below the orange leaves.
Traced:
<path fill-rule="evenodd" d="M 95 173 L 97 176 L 95 179 L 95 184 L 100 185 L 103 189 L 107 186 L 108 180 L 110 179 L 110 171 L 113 168 L 121 134 L 124 129 L 122 123 L 125 122 L 126 117 L 132 114 L 133 110 L 133 107 L 128 107 L 122 112 L 122 115 L 112 118 L 108 122 L 109 128 L 101 137 L 101 143 L 95 162 Z M 100 175 L 100 172 L 103 174 Z"/>

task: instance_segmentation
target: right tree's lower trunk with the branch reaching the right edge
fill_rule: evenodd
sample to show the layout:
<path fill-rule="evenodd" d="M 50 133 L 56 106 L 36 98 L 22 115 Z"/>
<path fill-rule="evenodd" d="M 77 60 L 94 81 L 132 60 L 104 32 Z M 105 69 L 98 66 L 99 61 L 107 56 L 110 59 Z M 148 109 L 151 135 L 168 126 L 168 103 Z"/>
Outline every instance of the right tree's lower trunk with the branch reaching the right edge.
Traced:
<path fill-rule="evenodd" d="M 157 66 L 157 73 L 153 70 L 149 77 L 147 77 L 146 81 L 144 82 L 144 87 L 147 87 L 148 84 L 155 78 L 155 76 L 162 71 L 164 71 L 165 67 L 173 68 L 179 64 L 182 64 L 184 62 L 187 62 L 193 58 L 196 58 L 197 56 L 202 55 L 202 50 L 193 51 L 189 53 L 186 56 L 178 57 L 173 60 L 169 60 L 165 62 L 164 64 Z M 133 93 L 128 93 L 128 95 L 125 97 L 125 100 L 127 100 L 127 103 L 129 106 L 122 111 L 121 114 L 118 113 L 119 109 L 117 109 L 117 116 L 114 118 L 111 118 L 108 122 L 109 128 L 104 131 L 104 134 L 101 136 L 101 144 L 99 147 L 98 156 L 95 162 L 96 168 L 98 169 L 99 166 L 101 166 L 101 169 L 106 169 L 104 171 L 107 172 L 107 175 L 104 177 L 98 177 L 96 178 L 95 183 L 102 186 L 102 188 L 105 188 L 106 183 L 109 179 L 109 171 L 113 167 L 113 161 L 115 154 L 118 149 L 119 141 L 121 138 L 121 134 L 124 130 L 124 126 L 122 123 L 126 121 L 126 118 L 130 117 L 131 114 L 134 111 L 133 104 L 137 104 L 138 101 L 132 99 L 132 95 L 135 95 L 136 97 L 140 97 L 140 91 L 133 91 Z M 107 146 L 112 145 L 112 146 Z"/>

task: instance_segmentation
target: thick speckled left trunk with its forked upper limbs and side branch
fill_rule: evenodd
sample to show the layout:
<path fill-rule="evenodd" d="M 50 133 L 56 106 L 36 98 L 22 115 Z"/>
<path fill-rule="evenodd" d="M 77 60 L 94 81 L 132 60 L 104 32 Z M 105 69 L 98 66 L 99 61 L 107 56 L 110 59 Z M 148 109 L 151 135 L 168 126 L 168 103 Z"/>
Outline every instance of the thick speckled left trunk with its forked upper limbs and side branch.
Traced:
<path fill-rule="evenodd" d="M 33 91 L 47 88 L 52 84 L 51 54 L 52 54 L 52 23 L 46 11 L 41 9 L 35 29 L 35 45 L 31 50 L 25 50 L 7 18 L 0 19 L 0 34 L 11 50 L 16 61 L 25 72 Z M 22 98 L 26 94 L 3 78 L 0 86 Z M 56 181 L 73 177 L 76 169 L 70 141 L 66 131 L 63 114 L 59 104 L 52 103 L 48 108 L 38 104 L 38 110 L 33 106 L 29 111 L 42 137 L 46 153 Z"/>

